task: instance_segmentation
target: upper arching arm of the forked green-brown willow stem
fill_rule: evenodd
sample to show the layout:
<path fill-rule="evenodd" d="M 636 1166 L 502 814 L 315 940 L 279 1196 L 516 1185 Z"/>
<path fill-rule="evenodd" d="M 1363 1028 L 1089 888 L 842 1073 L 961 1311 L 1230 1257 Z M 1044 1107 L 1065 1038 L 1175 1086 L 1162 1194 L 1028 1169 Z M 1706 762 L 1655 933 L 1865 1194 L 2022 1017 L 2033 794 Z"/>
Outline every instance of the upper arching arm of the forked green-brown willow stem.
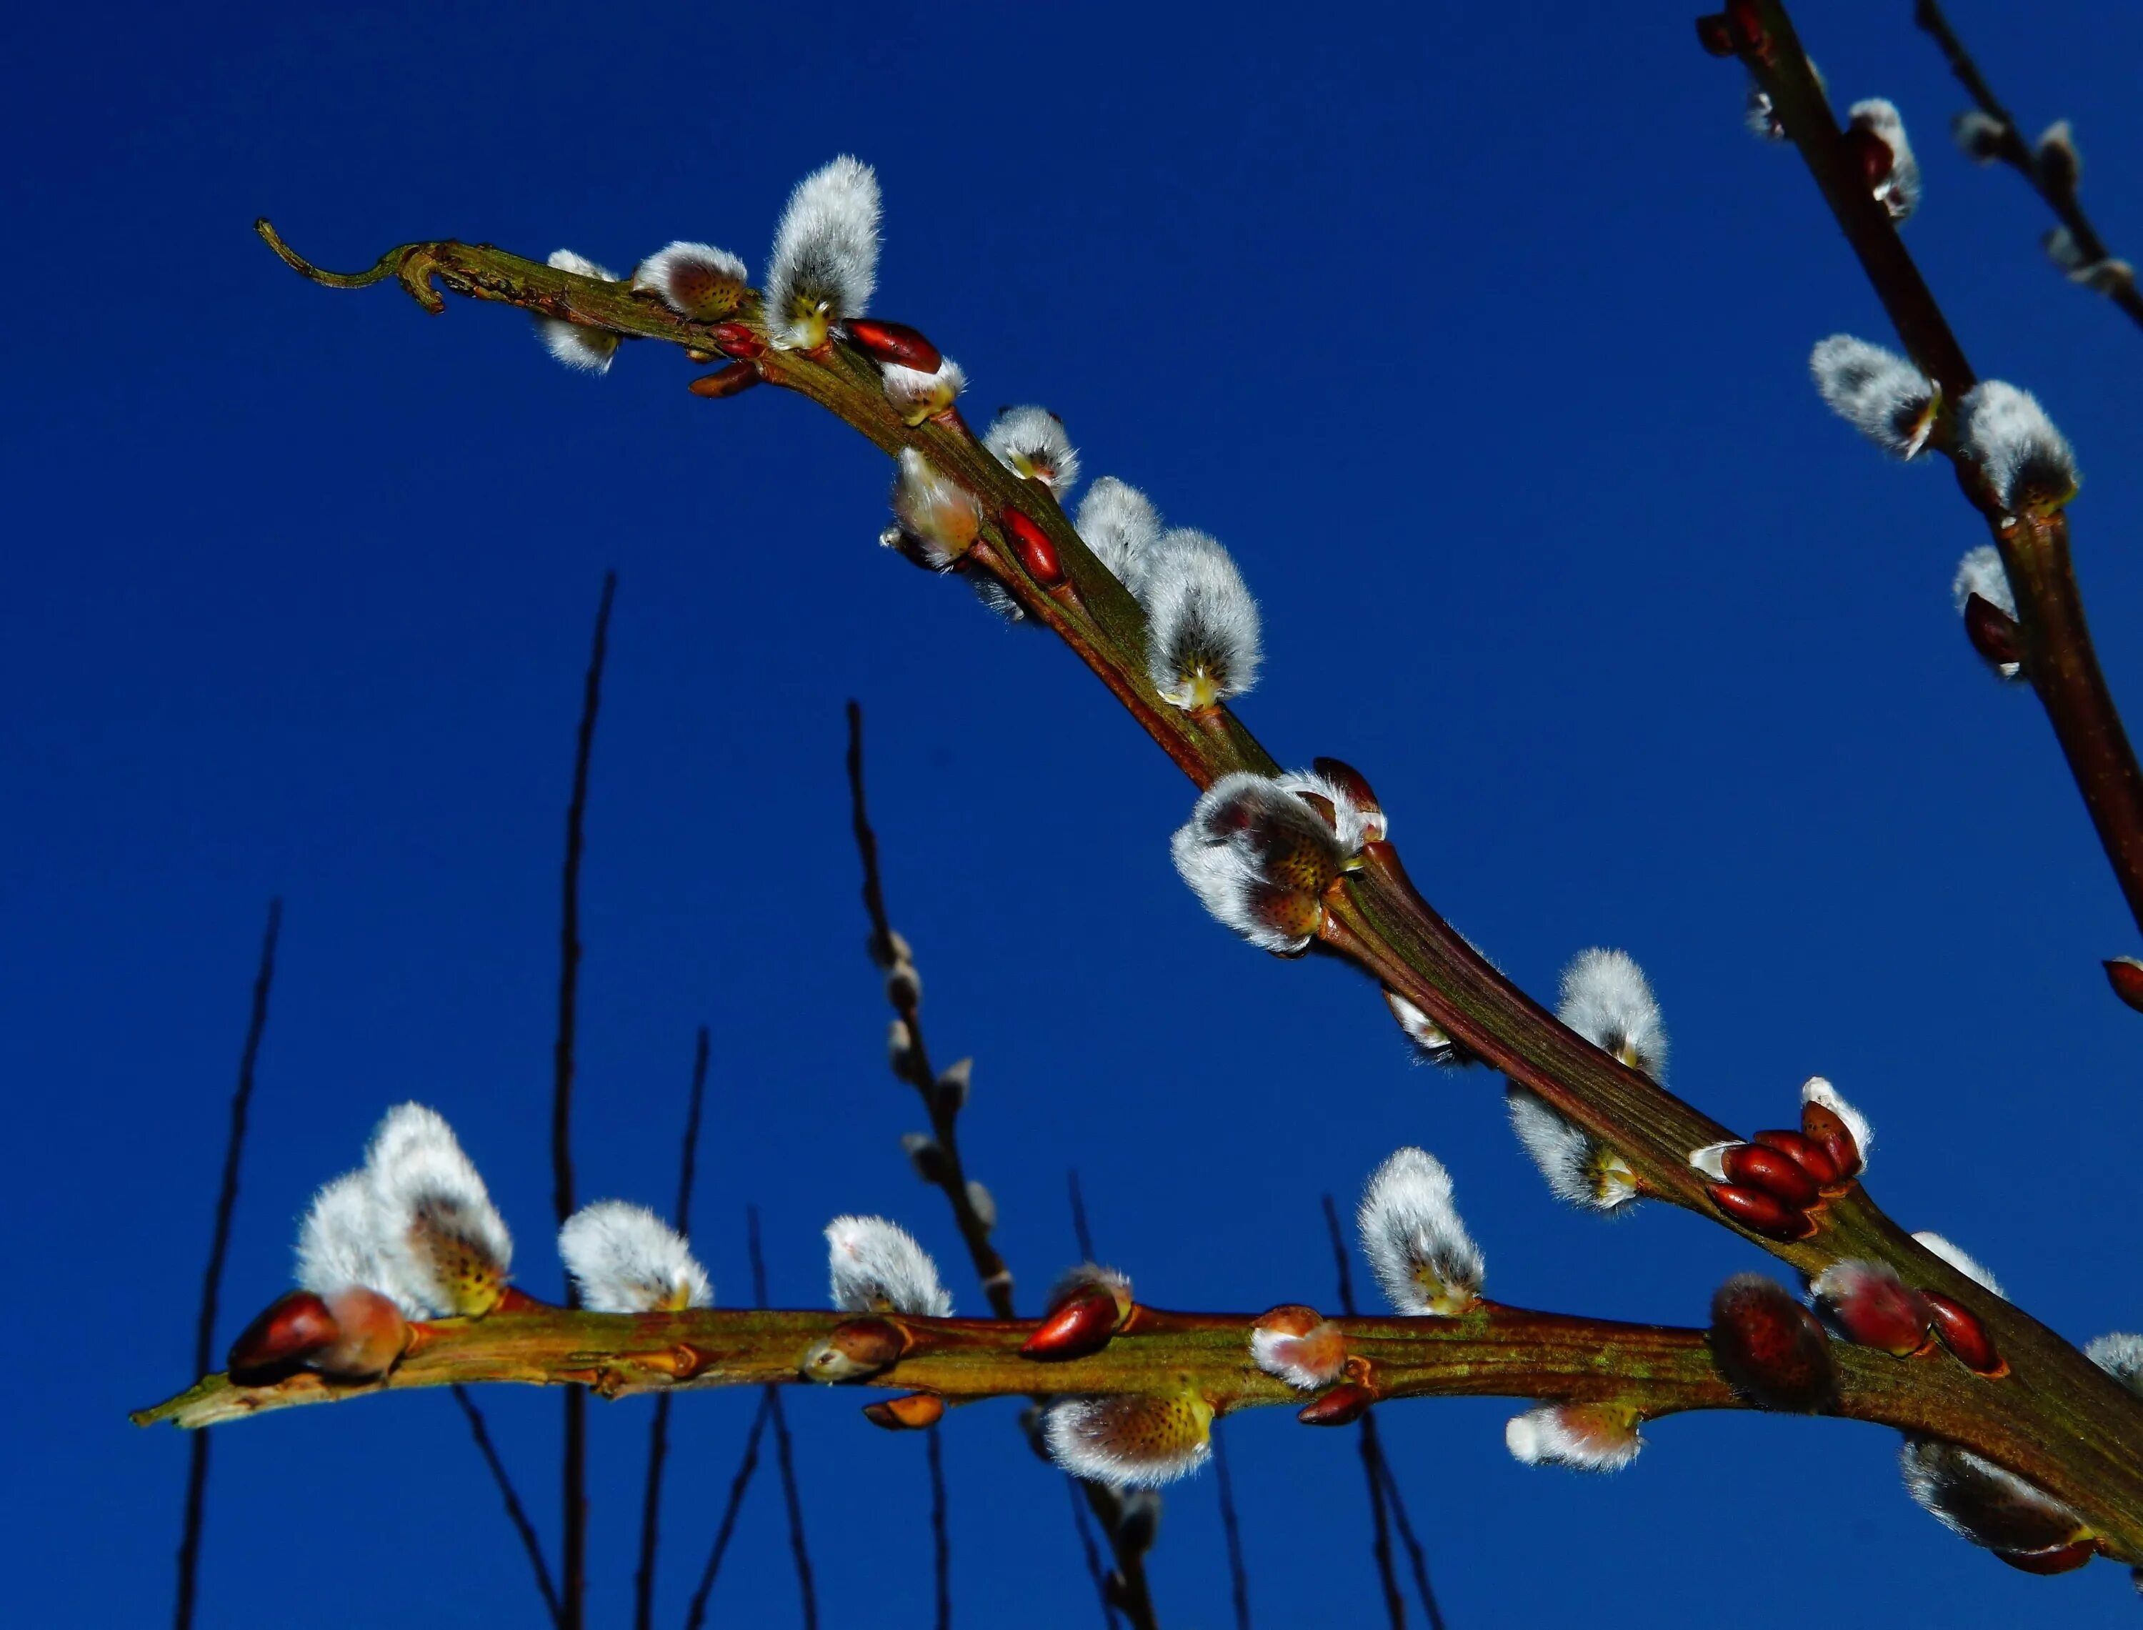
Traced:
<path fill-rule="evenodd" d="M 1804 82 L 1807 75 L 1800 79 Z M 1809 94 L 1813 94 L 1813 82 L 1804 86 L 1796 82 L 1794 97 L 1798 101 L 1785 103 L 1787 118 L 1800 127 L 1811 122 Z M 1789 129 L 1796 127 L 1794 122 Z M 1826 129 L 1830 127 L 1826 124 Z M 1828 169 L 1819 165 L 1817 178 L 1824 180 L 1834 169 L 1834 163 Z M 1841 182 L 1841 176 L 1832 176 L 1826 191 Z M 1839 197 L 1847 206 L 1858 197 L 1862 206 L 1862 214 L 1847 210 L 1841 219 L 1849 223 L 1864 219 L 1864 208 L 1871 206 L 1864 189 L 1843 189 Z M 317 275 L 283 244 L 272 227 L 261 223 L 259 229 L 298 272 L 334 283 L 332 275 Z M 1849 234 L 1854 229 L 1849 225 Z M 1879 236 L 1862 227 L 1856 247 L 1862 247 L 1862 238 L 1867 238 L 1864 255 L 1875 255 L 1890 272 L 1918 285 L 1918 272 L 1888 225 Z M 626 283 L 574 277 L 491 247 L 456 240 L 403 244 L 388 251 L 373 270 L 358 275 L 356 281 L 386 281 L 388 277 L 399 279 L 429 311 L 446 307 L 433 290 L 433 281 L 437 281 L 471 298 L 516 305 L 617 335 L 662 339 L 703 356 L 722 352 L 720 337 L 709 324 L 679 317 L 660 300 L 632 294 Z M 349 281 L 343 279 L 343 283 Z M 1950 377 L 1969 380 L 1969 369 L 1963 369 L 1957 343 L 1931 300 L 1907 302 L 1901 326 L 1922 367 L 1935 358 L 1935 371 L 1946 369 L 1942 375 L 1946 384 Z M 915 446 L 939 470 L 973 491 L 986 519 L 981 536 L 969 551 L 969 568 L 996 575 L 1007 594 L 1093 669 L 1196 785 L 1211 785 L 1230 770 L 1262 774 L 1277 770 L 1275 759 L 1228 708 L 1187 714 L 1159 699 L 1144 671 L 1144 618 L 1136 601 L 1093 558 L 1054 498 L 1044 487 L 1026 483 L 1001 465 L 956 416 L 945 423 L 926 420 L 921 427 L 909 429 L 885 399 L 879 369 L 844 343 L 831 343 L 814 354 L 765 350 L 752 358 L 752 367 L 765 382 L 791 388 L 827 408 L 887 453 Z M 729 408 L 729 412 L 739 410 Z M 1048 536 L 1069 579 L 1065 586 L 1050 590 L 1024 573 L 1018 553 L 1005 543 L 1003 525 L 994 519 L 1005 508 L 1018 508 Z M 2032 652 L 2044 669 L 2040 695 L 2049 697 L 2049 714 L 2057 718 L 2057 729 L 2062 729 L 2064 718 L 2070 723 L 2096 721 L 2096 725 L 2111 721 L 2111 740 L 2119 744 L 2117 755 L 2111 753 L 2102 731 L 2094 736 L 2096 725 L 2083 734 L 2098 742 L 2102 759 L 2126 759 L 2128 776 L 2134 779 L 2132 757 L 2126 753 L 2126 740 L 2119 738 L 2119 721 L 2113 716 L 2111 701 L 2104 699 L 2096 665 L 2089 663 L 2087 639 L 2079 658 L 2074 641 L 2047 637 L 2047 628 L 2059 624 L 2057 609 L 2062 605 L 2068 605 L 2074 626 L 2081 631 L 2081 609 L 2074 609 L 2074 583 L 2066 573 L 2066 534 L 2059 530 L 2059 519 L 2040 525 L 2029 549 L 2010 549 L 2010 553 L 2019 560 L 2012 566 L 2012 583 L 2019 601 L 2029 607 L 2027 639 L 2034 641 Z M 2066 601 L 2059 592 L 2064 581 L 2068 586 Z M 2081 669 L 2074 669 L 2077 661 L 2083 663 Z M 2068 667 L 2057 673 L 2057 663 Z M 2062 673 L 2074 673 L 2074 684 L 2059 682 Z M 2100 703 L 2096 710 L 2085 706 L 2094 684 Z M 2064 699 L 2059 708 L 2051 699 L 2055 695 Z M 2070 699 L 2081 699 L 2074 716 L 2064 712 Z M 2072 764 L 2081 751 L 2081 746 L 2072 751 Z M 2122 791 L 2126 781 L 2113 776 L 2109 785 L 2109 796 L 2119 794 L 2115 802 L 2128 798 Z M 2139 794 L 2132 800 L 2137 819 L 2124 830 L 2137 834 L 2137 854 L 2143 858 L 2143 789 L 2130 791 Z M 2089 781 L 2085 796 L 2094 800 Z M 2102 802 L 2104 798 L 2096 800 L 2094 811 Z M 2109 851 L 2113 851 L 2111 845 Z M 2119 869 L 2122 862 L 2115 864 Z M 2119 1555 L 2143 1561 L 2143 1403 L 2074 1347 L 1922 1248 L 1877 1210 L 1864 1188 L 1854 1188 L 1824 1207 L 1817 1214 L 1817 1231 L 1798 1242 L 1764 1240 L 1721 1216 L 1704 1195 L 1702 1177 L 1689 1167 L 1687 1156 L 1706 1143 L 1729 1137 L 1729 1132 L 1644 1075 L 1564 1029 L 1554 1014 L 1492 967 L 1421 899 L 1389 843 L 1367 847 L 1365 864 L 1348 873 L 1335 888 L 1324 918 L 1322 939 L 1329 950 L 1399 991 L 1462 1047 L 1616 1147 L 1635 1171 L 1644 1192 L 1693 1210 L 1721 1227 L 1732 1227 L 1802 1272 L 1815 1274 L 1845 1257 L 1884 1261 L 1899 1268 L 1907 1283 L 1942 1291 L 1978 1315 L 2010 1364 L 2008 1377 L 1987 1381 L 1972 1377 L 1957 1364 L 1882 1360 L 1890 1364 L 1886 1386 L 1918 1396 L 1924 1418 L 1942 1416 L 1939 1433 L 1944 1437 L 2034 1478 L 2083 1512 Z M 1239 1355 L 1234 1362 L 1241 1362 Z M 1858 1368 L 1864 1364 L 1864 1355 L 1854 1353 L 1849 1362 Z M 1072 1383 L 1065 1375 L 1059 1375 L 1056 1383 L 1084 1386 Z"/>

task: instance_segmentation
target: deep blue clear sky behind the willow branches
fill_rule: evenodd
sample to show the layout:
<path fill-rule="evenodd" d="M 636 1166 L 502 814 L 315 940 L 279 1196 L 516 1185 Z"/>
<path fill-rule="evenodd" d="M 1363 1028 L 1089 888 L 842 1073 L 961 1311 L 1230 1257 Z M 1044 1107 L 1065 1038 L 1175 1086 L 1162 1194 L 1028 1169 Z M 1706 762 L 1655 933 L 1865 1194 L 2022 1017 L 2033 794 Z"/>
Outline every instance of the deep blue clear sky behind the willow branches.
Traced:
<path fill-rule="evenodd" d="M 1560 1212 L 1492 1079 L 1408 1066 L 1376 995 L 1204 920 L 1166 836 L 1189 787 L 1046 637 L 881 553 L 887 468 L 801 401 L 686 395 L 671 352 L 568 375 L 510 311 L 328 294 L 251 236 L 362 266 L 420 236 L 630 266 L 671 236 L 763 264 L 786 189 L 879 165 L 876 309 L 971 405 L 1046 401 L 1093 474 L 1228 540 L 1284 759 L 1361 764 L 1429 896 L 1534 991 L 1582 946 L 1650 969 L 1674 1083 L 1740 1126 L 1809 1072 L 1882 1130 L 1873 1186 L 2055 1328 L 2143 1325 L 2137 950 L 2027 695 L 1948 609 L 1978 523 L 1804 382 L 1888 339 L 1800 163 L 1742 135 L 1687 4 L 1067 13 L 924 6 L 41 9 L 0 129 L 13 272 L 0 639 L 0 1403 L 24 1624 L 167 1613 L 184 1441 L 124 1409 L 189 1379 L 261 912 L 287 901 L 223 1330 L 291 1218 L 420 1096 L 546 1240 L 557 856 L 596 592 L 621 586 L 585 873 L 581 1182 L 666 1203 L 694 1025 L 716 1034 L 696 1244 L 748 1295 L 823 1295 L 819 1227 L 879 1210 L 979 1295 L 896 1137 L 844 828 L 870 708 L 887 888 L 932 1040 L 973 1053 L 973 1171 L 1033 1298 L 1099 1248 L 1164 1306 L 1331 1300 L 1318 1195 L 1395 1145 L 1453 1169 L 1498 1298 L 1702 1321 L 1747 1246 L 1652 1207 Z M 2021 182 L 1969 169 L 1907 0 L 1802 6 L 1837 99 L 1894 97 L 1909 240 L 1982 373 L 2085 468 L 2077 551 L 2143 697 L 2143 335 L 2044 266 Z M 1959 0 L 2034 129 L 2143 251 L 2143 17 Z M 615 41 L 615 43 L 613 43 Z M 555 1529 L 553 1396 L 486 1398 Z M 921 1443 L 795 1396 L 823 1600 L 928 1611 Z M 664 1621 L 750 1416 L 675 1411 Z M 1507 1405 L 1382 1411 L 1453 1626 L 1672 1613 L 2130 1624 L 2119 1570 L 2034 1581 L 1897 1491 L 1886 1433 L 1659 1424 L 1635 1469 L 1517 1467 Z M 645 1403 L 596 1409 L 594 1613 L 628 1611 Z M 1376 1613 L 1350 1435 L 1228 1422 L 1260 1621 Z M 204 1624 L 538 1615 L 444 1396 L 216 1439 Z M 1091 1626 L 1063 1488 L 1009 1407 L 947 1433 L 964 1624 Z M 1168 1497 L 1170 1626 L 1226 1621 L 1213 1480 Z M 1785 1579 L 1774 1591 L 1749 1581 Z M 1811 1596 L 1813 1594 L 1813 1596 Z M 763 1480 L 716 1609 L 793 1615 Z"/>

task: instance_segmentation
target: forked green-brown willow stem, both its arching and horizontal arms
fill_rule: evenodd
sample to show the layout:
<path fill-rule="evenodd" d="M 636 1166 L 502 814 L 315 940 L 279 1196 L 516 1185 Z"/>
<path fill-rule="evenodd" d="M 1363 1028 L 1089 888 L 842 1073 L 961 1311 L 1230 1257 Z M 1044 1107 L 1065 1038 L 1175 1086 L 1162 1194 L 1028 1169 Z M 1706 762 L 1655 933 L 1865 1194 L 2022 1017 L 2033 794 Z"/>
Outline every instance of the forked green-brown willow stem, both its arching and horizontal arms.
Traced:
<path fill-rule="evenodd" d="M 1813 82 L 1804 88 L 1794 86 L 1792 94 L 1798 101 L 1785 103 L 1789 131 L 1809 124 L 1809 92 L 1813 92 Z M 1822 180 L 1824 172 L 1817 169 L 1817 176 Z M 1847 204 L 1852 199 L 1873 206 L 1864 187 L 1856 187 Z M 1888 221 L 1884 221 L 1879 238 L 1862 227 L 1847 227 L 1849 234 L 1856 229 L 1860 232 L 1856 247 L 1862 247 L 1860 238 L 1867 238 L 1864 257 L 1875 255 L 1899 279 L 1909 277 L 1918 285 L 1918 272 L 1897 244 Z M 261 223 L 261 236 L 276 247 L 285 262 L 315 277 L 304 262 L 281 247 L 266 223 Z M 679 317 L 654 296 L 634 294 L 628 283 L 574 277 L 482 244 L 454 240 L 403 244 L 384 255 L 364 277 L 384 281 L 390 275 L 399 277 L 403 287 L 429 311 L 444 309 L 444 300 L 433 287 L 437 281 L 439 287 L 478 300 L 516 305 L 626 337 L 669 341 L 686 347 L 696 360 L 716 360 L 724 352 L 722 337 L 711 324 Z M 332 275 L 315 281 L 332 281 Z M 1924 296 L 1924 285 L 1920 287 Z M 1907 302 L 1905 313 L 1912 324 L 1907 343 L 1922 358 L 1922 367 L 1931 356 L 1948 358 L 1933 369 L 1937 377 L 1944 377 L 1944 367 L 1948 369 L 1946 377 L 1969 377 L 1954 337 L 1933 302 L 1924 298 L 1918 305 Z M 746 307 L 739 328 L 763 339 L 752 305 Z M 750 352 L 752 345 L 737 350 Z M 984 528 L 962 566 L 996 575 L 1031 618 L 1059 633 L 1198 787 L 1207 787 L 1232 770 L 1277 772 L 1277 761 L 1228 708 L 1189 714 L 1162 701 L 1144 669 L 1144 613 L 1138 603 L 1087 549 L 1048 489 L 1022 480 L 999 463 L 956 412 L 941 420 L 926 420 L 915 429 L 906 427 L 885 399 L 876 365 L 840 341 L 831 341 L 819 352 L 765 350 L 748 360 L 767 384 L 791 388 L 816 401 L 887 453 L 915 446 L 939 470 L 973 491 L 984 510 Z M 726 408 L 726 412 L 744 410 Z M 1048 588 L 1024 573 L 996 519 L 1007 508 L 1024 513 L 1048 536 L 1059 553 L 1065 583 Z M 2036 579 L 2012 568 L 2012 581 L 2023 598 Z M 2044 613 L 2027 626 L 2047 626 Z M 2139 811 L 2143 811 L 2143 800 L 2139 800 Z M 2143 821 L 2137 824 L 2137 830 L 2143 832 Z M 2143 858 L 2143 849 L 2139 849 L 2139 858 Z M 1721 1227 L 1732 1227 L 1802 1272 L 1813 1274 L 1845 1257 L 1884 1261 L 1897 1268 L 1909 1285 L 1942 1291 L 1978 1315 L 2008 1360 L 2008 1375 L 1999 1379 L 1978 1377 L 1939 1353 L 1929 1360 L 1888 1360 L 1837 1345 L 1841 1370 L 1849 1381 L 1845 1413 L 1948 1437 L 1987 1454 L 2072 1503 L 2102 1536 L 2107 1548 L 2124 1559 L 2143 1561 L 2143 1401 L 2128 1394 L 2027 1313 L 1924 1250 L 1905 1229 L 1890 1222 L 1862 1188 L 1819 1207 L 1815 1233 L 1794 1244 L 1766 1240 L 1725 1218 L 1704 1195 L 1687 1156 L 1704 1143 L 1729 1137 L 1729 1132 L 1654 1081 L 1569 1032 L 1494 969 L 1421 899 L 1406 879 L 1397 851 L 1389 845 L 1372 845 L 1367 864 L 1335 888 L 1324 918 L 1320 939 L 1327 952 L 1357 963 L 1378 982 L 1397 989 L 1464 1047 L 1609 1143 L 1635 1171 L 1644 1192 L 1693 1210 Z M 1785 1117 L 1781 1113 L 1781 1120 Z M 722 1319 L 731 1315 L 699 1317 Z M 825 1315 L 782 1317 L 821 1319 L 821 1323 L 789 1325 L 791 1345 L 780 1353 L 761 1353 L 744 1366 L 741 1377 L 733 1377 L 726 1368 L 731 1362 L 744 1362 L 741 1358 L 718 1355 L 720 1362 L 709 1360 L 694 1368 L 692 1383 L 789 1379 L 795 1364 L 793 1336 L 827 1325 L 823 1323 Z M 1192 1381 L 1207 1392 L 1217 1409 L 1282 1403 L 1294 1396 L 1279 1381 L 1258 1375 L 1247 1364 L 1243 1321 L 1222 1319 L 1215 1325 L 1215 1321 L 1183 1315 L 1166 1317 L 1179 1319 L 1170 1330 L 1170 1343 L 1155 1343 L 1153 1336 L 1144 1340 L 1119 1338 L 1097 1358 L 1050 1366 L 1044 1386 L 1063 1392 L 1147 1392 Z M 1507 1351 L 1500 1360 L 1492 1358 L 1489 1351 L 1449 1347 L 1451 1340 L 1462 1340 L 1470 1330 L 1464 1319 L 1447 1321 L 1434 1334 L 1410 1321 L 1359 1323 L 1365 1325 L 1365 1336 L 1410 1343 L 1404 1353 L 1399 1349 L 1389 1353 L 1391 1370 L 1380 1370 L 1387 1396 L 1496 1392 L 1532 1398 L 1599 1398 L 1631 1396 L 1635 1388 L 1648 1413 L 1734 1407 L 1732 1394 L 1710 1370 L 1697 1332 L 1678 1332 L 1659 1353 L 1650 1355 L 1631 1347 L 1601 1347 L 1597 1343 L 1579 1355 L 1558 1347 L 1549 1332 L 1569 1328 L 1569 1323 L 1597 1332 L 1599 1325 L 1558 1323 L 1549 1315 L 1524 1317 L 1534 1321 L 1526 1325 L 1526 1343 L 1547 1343 L 1547 1347 L 1528 1345 L 1526 1351 Z M 1378 1330 L 1369 1330 L 1372 1325 Z M 1384 1330 L 1387 1325 L 1395 1328 Z M 994 1336 L 988 1323 L 949 1321 L 947 1330 L 951 1328 L 969 1330 L 971 1336 L 951 1347 L 936 1347 L 928 1355 L 904 1360 L 891 1383 L 919 1386 L 954 1398 L 1035 1390 L 1035 1366 L 1014 1360 L 1007 1368 L 1005 1345 L 1016 1345 L 1011 1334 L 1005 1334 L 1007 1328 L 999 1328 Z M 1620 1330 L 1631 1328 L 1622 1325 Z M 1207 1362 L 1194 1362 L 1200 1343 L 1207 1343 Z M 1427 1343 L 1427 1347 L 1414 1347 L 1419 1343 Z M 1672 1362 L 1663 1353 L 1672 1353 Z M 579 1370 L 568 1364 L 568 1358 L 574 1355 L 581 1360 Z M 1447 1360 L 1442 1366 L 1434 1362 L 1438 1355 Z M 1629 1366 L 1627 1373 L 1622 1366 Z M 416 1375 L 429 1373 L 418 1360 L 409 1360 L 396 1370 L 396 1377 L 411 1368 Z M 486 1379 L 587 1379 L 598 1390 L 602 1386 L 611 1390 L 677 1386 L 675 1377 L 649 1379 L 632 1366 L 604 1364 L 602 1353 L 585 1345 L 572 1347 L 570 1353 L 551 1353 L 549 1368 L 504 1364 L 501 1373 Z M 394 1383 L 411 1386 L 414 1381 L 396 1379 Z M 184 1409 L 189 1420 L 214 1420 L 227 1418 L 216 1413 L 223 1407 L 240 1413 L 259 1407 L 242 1401 L 219 1405 L 227 1383 L 204 1381 L 201 1386 L 210 1388 L 212 1394 L 186 1394 L 174 1405 L 165 1405 L 156 1418 Z M 315 1396 L 334 1394 L 317 1381 L 291 1386 L 300 1390 L 309 1386 Z"/>

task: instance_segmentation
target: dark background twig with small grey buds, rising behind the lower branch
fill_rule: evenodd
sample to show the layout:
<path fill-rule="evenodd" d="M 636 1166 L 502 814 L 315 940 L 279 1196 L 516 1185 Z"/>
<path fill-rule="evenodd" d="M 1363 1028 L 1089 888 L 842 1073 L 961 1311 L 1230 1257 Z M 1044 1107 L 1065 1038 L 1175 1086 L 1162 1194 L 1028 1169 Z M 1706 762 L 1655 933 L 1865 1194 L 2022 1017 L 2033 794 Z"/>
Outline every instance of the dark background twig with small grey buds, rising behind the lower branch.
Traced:
<path fill-rule="evenodd" d="M 864 798 L 864 706 L 849 699 L 849 824 L 855 832 L 855 854 L 864 866 L 864 914 L 870 918 L 870 957 L 883 967 L 894 965 L 894 924 L 885 912 L 885 877 L 879 871 L 879 834 L 870 826 L 870 806 Z M 951 1205 L 951 1218 L 960 1229 L 960 1238 L 966 1242 L 969 1261 L 975 1263 L 975 1278 L 981 1280 L 981 1293 L 990 1300 L 990 1310 L 999 1319 L 1014 1317 L 1011 1306 L 1011 1268 L 999 1255 L 996 1244 L 990 1240 L 990 1225 L 984 1222 L 981 1212 L 975 1210 L 975 1199 L 966 1188 L 966 1167 L 960 1162 L 960 1109 L 962 1100 L 949 1092 L 939 1092 L 936 1070 L 930 1064 L 930 1047 L 924 1040 L 924 1019 L 921 1019 L 921 997 L 915 987 L 900 987 L 898 993 L 887 982 L 887 995 L 894 1002 L 894 1017 L 906 1025 L 909 1044 L 902 1049 L 900 1057 L 894 1060 L 894 1075 L 906 1081 L 924 1100 L 924 1113 L 930 1115 L 930 1135 L 936 1139 L 941 1162 L 936 1177 L 932 1180 L 945 1195 L 945 1203 Z M 930 1428 L 936 1431 L 934 1426 Z M 930 1491 L 936 1508 L 943 1503 L 943 1471 L 936 1458 L 936 1441 L 930 1448 Z M 1069 1473 L 1065 1473 L 1069 1476 Z M 1082 1478 L 1074 1482 L 1084 1484 Z M 1153 1594 L 1147 1589 L 1147 1566 L 1144 1555 L 1136 1546 L 1123 1544 L 1123 1533 L 1117 1523 L 1108 1521 L 1108 1510 L 1117 1508 L 1114 1495 L 1097 1497 L 1095 1488 L 1082 1486 L 1087 1503 L 1093 1506 L 1095 1516 L 1102 1521 L 1102 1529 L 1108 1536 L 1108 1548 L 1117 1557 L 1117 1579 L 1119 1596 L 1123 1598 L 1123 1613 L 1132 1619 L 1134 1630 L 1155 1630 L 1157 1617 L 1153 1611 Z M 943 1536 L 943 1527 L 939 1527 Z M 1093 1583 L 1104 1589 L 1102 1570 L 1093 1570 Z M 943 1568 L 939 1570 L 941 1596 L 939 1613 L 949 1615 L 949 1606 L 943 1596 Z"/>

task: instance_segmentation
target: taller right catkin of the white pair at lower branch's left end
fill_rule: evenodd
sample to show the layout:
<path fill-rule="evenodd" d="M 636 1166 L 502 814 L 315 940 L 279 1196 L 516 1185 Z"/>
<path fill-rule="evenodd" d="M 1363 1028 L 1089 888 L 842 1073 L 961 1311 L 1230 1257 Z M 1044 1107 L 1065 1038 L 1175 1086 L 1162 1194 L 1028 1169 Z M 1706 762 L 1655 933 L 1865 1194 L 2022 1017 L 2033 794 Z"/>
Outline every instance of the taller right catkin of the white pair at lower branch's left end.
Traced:
<path fill-rule="evenodd" d="M 433 1313 L 486 1310 L 471 1287 L 495 1293 L 506 1283 L 514 1240 L 446 1117 L 424 1105 L 390 1109 L 364 1150 L 364 1175 L 381 1216 L 381 1265 L 394 1280 L 373 1289 Z"/>

